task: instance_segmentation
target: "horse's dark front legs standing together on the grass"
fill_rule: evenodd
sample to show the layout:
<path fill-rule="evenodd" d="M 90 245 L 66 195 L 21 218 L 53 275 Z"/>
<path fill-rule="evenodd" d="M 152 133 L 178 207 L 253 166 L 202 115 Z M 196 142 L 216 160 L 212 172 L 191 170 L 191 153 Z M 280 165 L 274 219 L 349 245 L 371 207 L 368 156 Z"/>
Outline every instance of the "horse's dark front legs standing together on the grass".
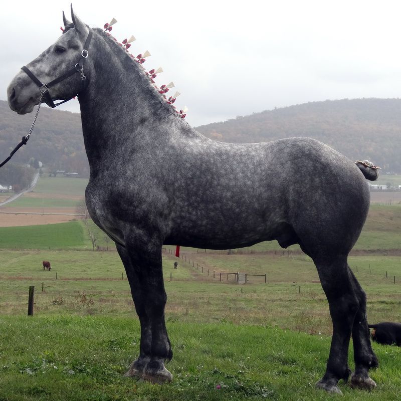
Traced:
<path fill-rule="evenodd" d="M 162 383 L 172 379 L 164 363 L 172 358 L 164 322 L 164 290 L 161 245 L 124 248 L 117 245 L 131 287 L 132 299 L 141 326 L 139 357 L 126 376 Z"/>

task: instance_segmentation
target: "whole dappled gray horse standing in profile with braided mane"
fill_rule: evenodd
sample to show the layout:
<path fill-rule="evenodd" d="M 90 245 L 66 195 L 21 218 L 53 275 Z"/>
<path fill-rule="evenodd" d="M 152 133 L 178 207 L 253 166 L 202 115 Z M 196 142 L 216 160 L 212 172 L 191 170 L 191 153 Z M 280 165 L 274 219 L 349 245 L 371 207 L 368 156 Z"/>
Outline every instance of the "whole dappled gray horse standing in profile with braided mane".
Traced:
<path fill-rule="evenodd" d="M 366 322 L 366 297 L 347 264 L 365 222 L 365 177 L 377 171 L 309 138 L 230 144 L 199 134 L 180 118 L 142 66 L 101 29 L 72 13 L 64 34 L 27 65 L 49 82 L 78 65 L 92 32 L 81 75 L 50 90 L 53 100 L 78 93 L 90 180 L 86 203 L 112 238 L 124 264 L 141 325 L 140 355 L 130 376 L 171 380 L 172 351 L 164 323 L 162 245 L 240 248 L 277 240 L 299 244 L 317 268 L 333 322 L 326 372 L 317 386 L 332 392 L 351 373 L 351 385 L 375 387 L 377 366 Z M 84 53 L 84 56 L 87 56 Z M 77 70 L 82 70 L 78 66 Z M 31 112 L 38 85 L 21 71 L 10 83 L 10 107 Z M 84 82 L 84 84 L 83 84 Z M 48 101 L 47 101 L 48 102 Z"/>

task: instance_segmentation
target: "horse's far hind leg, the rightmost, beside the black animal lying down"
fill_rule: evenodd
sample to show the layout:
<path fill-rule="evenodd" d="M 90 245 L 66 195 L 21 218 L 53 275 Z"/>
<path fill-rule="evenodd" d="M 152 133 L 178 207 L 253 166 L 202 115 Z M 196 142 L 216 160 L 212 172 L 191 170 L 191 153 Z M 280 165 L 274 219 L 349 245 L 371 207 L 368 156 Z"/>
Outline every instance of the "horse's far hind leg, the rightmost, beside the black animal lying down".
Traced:
<path fill-rule="evenodd" d="M 350 386 L 370 390 L 376 387 L 376 383 L 369 377 L 369 369 L 377 367 L 378 361 L 370 343 L 369 328 L 366 319 L 366 294 L 351 269 L 349 269 L 349 274 L 359 301 L 359 309 L 356 312 L 352 326 L 355 372 L 351 375 Z"/>

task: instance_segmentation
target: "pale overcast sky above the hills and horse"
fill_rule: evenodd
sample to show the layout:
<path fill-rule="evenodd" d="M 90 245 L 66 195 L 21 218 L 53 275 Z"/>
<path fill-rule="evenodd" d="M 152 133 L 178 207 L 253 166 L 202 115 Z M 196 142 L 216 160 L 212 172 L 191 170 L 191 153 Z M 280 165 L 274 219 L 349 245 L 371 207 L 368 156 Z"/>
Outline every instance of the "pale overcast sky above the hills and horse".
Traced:
<path fill-rule="evenodd" d="M 115 17 L 112 34 L 134 35 L 173 81 L 175 105 L 197 126 L 312 101 L 401 96 L 399 1 L 85 1 L 74 12 L 89 26 Z M 0 99 L 19 69 L 59 35 L 70 2 L 12 1 L 2 10 Z M 79 111 L 72 100 L 64 110 Z M 16 118 L 18 118 L 16 114 Z"/>

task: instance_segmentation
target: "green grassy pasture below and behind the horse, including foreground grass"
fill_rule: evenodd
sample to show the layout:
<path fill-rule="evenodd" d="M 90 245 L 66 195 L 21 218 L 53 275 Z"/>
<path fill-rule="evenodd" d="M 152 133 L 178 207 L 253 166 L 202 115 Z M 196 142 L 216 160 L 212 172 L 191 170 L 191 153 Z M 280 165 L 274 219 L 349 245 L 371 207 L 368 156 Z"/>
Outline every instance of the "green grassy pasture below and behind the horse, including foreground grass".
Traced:
<path fill-rule="evenodd" d="M 48 199 L 62 199 L 63 191 L 78 196 L 73 192 L 85 180 L 74 180 L 41 179 L 43 187 L 35 190 Z M 60 183 L 56 194 L 46 187 L 52 182 Z M 65 189 L 66 182 L 76 189 Z M 316 269 L 298 247 L 282 250 L 276 242 L 230 255 L 181 248 L 178 269 L 174 247 L 166 247 L 165 315 L 174 353 L 167 367 L 173 382 L 160 386 L 122 377 L 138 354 L 139 322 L 114 247 L 109 243 L 109 252 L 92 252 L 88 229 L 95 230 L 82 221 L 0 228 L 1 401 L 335 397 L 314 388 L 332 331 L 326 297 L 314 283 Z M 349 258 L 367 293 L 372 323 L 401 321 L 399 233 L 400 206 L 372 205 Z M 100 236 L 98 245 L 106 246 Z M 51 261 L 50 272 L 43 270 L 43 260 Z M 231 276 L 220 282 L 220 272 L 238 271 L 267 274 L 267 283 L 250 277 L 238 285 Z M 28 317 L 32 285 L 34 316 Z M 371 371 L 377 388 L 363 392 L 340 382 L 342 399 L 398 399 L 400 349 L 373 348 L 380 362 Z"/>

